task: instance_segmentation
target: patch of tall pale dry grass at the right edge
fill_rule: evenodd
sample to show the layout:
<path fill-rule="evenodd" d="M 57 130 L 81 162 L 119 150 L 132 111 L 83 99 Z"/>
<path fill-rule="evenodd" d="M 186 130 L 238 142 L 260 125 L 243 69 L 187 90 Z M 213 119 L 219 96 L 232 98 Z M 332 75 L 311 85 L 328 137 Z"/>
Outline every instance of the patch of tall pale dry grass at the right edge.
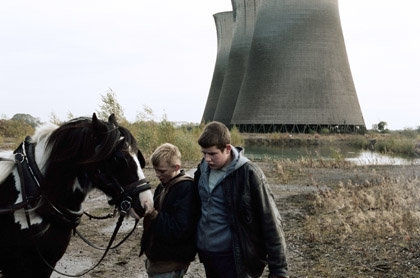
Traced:
<path fill-rule="evenodd" d="M 420 180 L 340 183 L 335 190 L 320 191 L 306 226 L 309 239 L 317 242 L 419 235 Z"/>

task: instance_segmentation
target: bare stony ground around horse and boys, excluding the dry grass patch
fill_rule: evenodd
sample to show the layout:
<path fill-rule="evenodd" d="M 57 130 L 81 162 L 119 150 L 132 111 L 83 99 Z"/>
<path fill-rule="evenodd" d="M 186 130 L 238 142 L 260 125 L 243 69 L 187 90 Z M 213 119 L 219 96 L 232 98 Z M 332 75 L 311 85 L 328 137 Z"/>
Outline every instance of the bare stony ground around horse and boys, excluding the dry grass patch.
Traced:
<path fill-rule="evenodd" d="M 364 166 L 364 167 L 296 167 L 287 172 L 275 162 L 257 162 L 267 175 L 276 204 L 282 214 L 284 231 L 288 244 L 290 277 L 420 277 L 420 238 L 410 240 L 392 236 L 357 244 L 357 239 L 343 243 L 310 240 L 303 228 L 310 214 L 310 203 L 320 190 L 334 188 L 340 181 L 362 183 L 381 177 L 403 177 L 416 179 L 420 166 Z M 191 165 L 192 166 L 192 165 Z M 150 168 L 148 177 L 153 176 Z M 156 182 L 156 180 L 154 180 Z M 84 207 L 90 213 L 101 215 L 109 212 L 106 198 L 99 192 L 92 192 Z M 98 245 L 105 246 L 112 234 L 116 218 L 99 221 L 84 218 L 79 230 Z M 128 219 L 122 227 L 127 233 L 133 225 Z M 120 248 L 109 252 L 105 260 L 84 277 L 147 277 L 144 256 L 139 257 L 139 242 L 142 225 Z M 58 263 L 57 269 L 75 274 L 89 268 L 101 257 L 97 251 L 73 237 L 70 246 Z M 264 277 L 268 276 L 267 271 Z M 52 277 L 61 277 L 53 274 Z M 202 265 L 194 261 L 186 277 L 205 277 Z"/>

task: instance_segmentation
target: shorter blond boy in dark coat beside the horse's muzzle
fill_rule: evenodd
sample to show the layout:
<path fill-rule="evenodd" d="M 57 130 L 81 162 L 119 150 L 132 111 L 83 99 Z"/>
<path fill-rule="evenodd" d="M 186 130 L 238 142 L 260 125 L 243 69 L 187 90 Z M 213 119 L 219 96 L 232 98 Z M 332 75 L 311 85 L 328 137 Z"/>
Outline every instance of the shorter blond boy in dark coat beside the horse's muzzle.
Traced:
<path fill-rule="evenodd" d="M 150 160 L 161 183 L 153 196 L 155 211 L 144 218 L 140 255 L 146 254 L 149 277 L 183 277 L 196 254 L 193 179 L 181 170 L 181 153 L 172 144 L 159 146 Z"/>

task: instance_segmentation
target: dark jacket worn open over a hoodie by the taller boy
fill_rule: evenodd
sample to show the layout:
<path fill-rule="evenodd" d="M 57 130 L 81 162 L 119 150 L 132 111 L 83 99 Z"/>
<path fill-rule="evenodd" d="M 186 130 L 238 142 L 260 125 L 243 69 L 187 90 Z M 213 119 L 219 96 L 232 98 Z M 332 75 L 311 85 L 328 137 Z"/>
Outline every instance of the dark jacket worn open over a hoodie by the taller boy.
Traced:
<path fill-rule="evenodd" d="M 194 174 L 197 196 L 201 164 Z M 281 217 L 264 173 L 248 161 L 227 175 L 221 186 L 230 216 L 238 277 L 259 277 L 267 264 L 271 274 L 286 277 L 286 244 Z"/>

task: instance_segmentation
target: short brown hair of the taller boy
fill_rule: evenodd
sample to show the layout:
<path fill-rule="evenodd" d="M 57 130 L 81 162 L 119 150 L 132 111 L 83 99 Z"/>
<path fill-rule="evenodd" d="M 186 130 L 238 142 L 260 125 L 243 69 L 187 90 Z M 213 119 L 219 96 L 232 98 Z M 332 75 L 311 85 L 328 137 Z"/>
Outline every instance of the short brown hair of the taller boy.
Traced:
<path fill-rule="evenodd" d="M 216 146 L 220 150 L 224 150 L 227 144 L 230 144 L 229 129 L 221 122 L 208 123 L 198 138 L 198 144 L 202 148 L 210 148 Z"/>

